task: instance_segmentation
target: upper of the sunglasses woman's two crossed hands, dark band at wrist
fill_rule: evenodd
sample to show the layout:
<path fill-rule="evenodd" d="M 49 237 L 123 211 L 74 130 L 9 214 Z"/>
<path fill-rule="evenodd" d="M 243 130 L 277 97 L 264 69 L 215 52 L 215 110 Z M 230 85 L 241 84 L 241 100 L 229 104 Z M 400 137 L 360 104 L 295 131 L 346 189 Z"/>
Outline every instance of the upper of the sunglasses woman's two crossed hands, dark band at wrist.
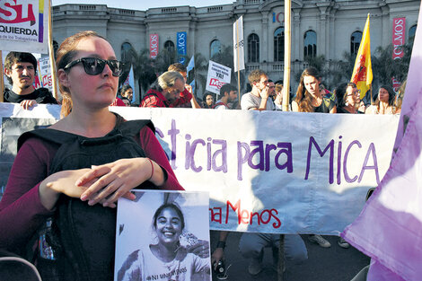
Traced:
<path fill-rule="evenodd" d="M 76 180 L 76 185 L 82 187 L 95 179 L 98 180 L 84 190 L 81 200 L 88 200 L 89 205 L 101 203 L 102 206 L 115 207 L 121 197 L 134 200 L 135 195 L 130 189 L 136 188 L 145 180 L 151 180 L 155 185 L 163 184 L 164 174 L 161 167 L 148 158 L 120 159 L 93 166 Z"/>

